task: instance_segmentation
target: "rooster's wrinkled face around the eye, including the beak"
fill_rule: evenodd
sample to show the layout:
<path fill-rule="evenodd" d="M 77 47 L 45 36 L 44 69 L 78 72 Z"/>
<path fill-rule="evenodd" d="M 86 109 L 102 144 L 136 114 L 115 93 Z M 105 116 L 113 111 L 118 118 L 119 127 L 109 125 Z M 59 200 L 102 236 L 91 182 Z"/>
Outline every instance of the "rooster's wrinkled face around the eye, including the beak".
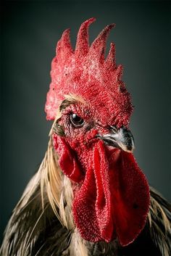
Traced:
<path fill-rule="evenodd" d="M 97 111 L 88 104 L 78 102 L 70 104 L 62 110 L 61 120 L 58 125 L 64 129 L 66 140 L 73 149 L 90 147 L 95 141 L 101 139 L 105 144 L 133 152 L 133 136 L 124 126 L 104 125 L 101 120 L 96 120 Z"/>

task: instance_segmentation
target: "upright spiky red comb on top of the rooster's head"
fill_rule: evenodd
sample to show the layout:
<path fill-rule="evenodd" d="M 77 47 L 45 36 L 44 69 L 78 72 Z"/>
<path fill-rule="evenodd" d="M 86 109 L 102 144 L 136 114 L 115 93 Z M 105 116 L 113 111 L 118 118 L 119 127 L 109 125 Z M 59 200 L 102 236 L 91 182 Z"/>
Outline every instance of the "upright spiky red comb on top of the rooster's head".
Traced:
<path fill-rule="evenodd" d="M 107 109 L 114 113 L 114 116 L 110 114 L 111 122 L 117 116 L 122 125 L 128 125 L 132 104 L 130 94 L 120 80 L 122 66 L 116 65 L 113 43 L 107 59 L 104 57 L 107 37 L 114 24 L 107 25 L 89 46 L 88 27 L 94 21 L 91 18 L 80 26 L 75 51 L 70 44 L 69 29 L 64 30 L 57 44 L 57 56 L 51 63 L 51 85 L 45 107 L 47 120 L 54 120 L 59 104 L 66 94 L 81 96 L 94 104 L 95 108 L 99 108 L 99 102 L 103 102 L 105 95 Z"/>

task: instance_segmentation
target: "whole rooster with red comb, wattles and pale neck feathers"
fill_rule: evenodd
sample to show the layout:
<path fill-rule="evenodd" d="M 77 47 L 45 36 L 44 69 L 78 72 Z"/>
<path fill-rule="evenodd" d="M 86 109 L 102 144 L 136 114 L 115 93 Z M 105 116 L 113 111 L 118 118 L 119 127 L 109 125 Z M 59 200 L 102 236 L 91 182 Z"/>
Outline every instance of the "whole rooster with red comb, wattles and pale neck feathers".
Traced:
<path fill-rule="evenodd" d="M 108 25 L 75 51 L 62 34 L 51 63 L 46 118 L 54 120 L 38 172 L 14 208 L 2 256 L 170 256 L 170 204 L 133 157 L 133 112 Z"/>

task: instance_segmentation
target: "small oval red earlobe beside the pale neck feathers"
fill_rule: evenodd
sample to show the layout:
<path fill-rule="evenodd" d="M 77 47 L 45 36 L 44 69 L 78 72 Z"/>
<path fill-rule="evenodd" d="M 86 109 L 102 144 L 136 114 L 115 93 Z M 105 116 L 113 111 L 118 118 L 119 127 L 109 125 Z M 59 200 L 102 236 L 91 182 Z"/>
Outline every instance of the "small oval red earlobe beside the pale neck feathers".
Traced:
<path fill-rule="evenodd" d="M 59 156 L 59 166 L 62 169 L 64 175 L 70 178 L 72 181 L 80 182 L 83 180 L 84 175 L 81 171 L 80 164 L 76 158 L 76 154 L 73 149 L 67 144 L 64 137 L 53 134 L 54 149 Z"/>

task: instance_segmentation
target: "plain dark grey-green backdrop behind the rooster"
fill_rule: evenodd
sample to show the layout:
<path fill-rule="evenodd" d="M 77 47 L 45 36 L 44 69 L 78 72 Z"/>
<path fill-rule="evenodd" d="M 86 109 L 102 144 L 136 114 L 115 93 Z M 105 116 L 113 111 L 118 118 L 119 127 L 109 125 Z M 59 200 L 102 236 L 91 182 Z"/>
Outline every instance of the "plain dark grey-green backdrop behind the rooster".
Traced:
<path fill-rule="evenodd" d="M 170 191 L 170 2 L 6 1 L 1 9 L 1 234 L 46 152 L 51 122 L 43 111 L 51 59 L 62 31 L 72 44 L 80 23 L 96 17 L 90 41 L 111 22 L 135 111 L 135 157 L 149 183 Z"/>

